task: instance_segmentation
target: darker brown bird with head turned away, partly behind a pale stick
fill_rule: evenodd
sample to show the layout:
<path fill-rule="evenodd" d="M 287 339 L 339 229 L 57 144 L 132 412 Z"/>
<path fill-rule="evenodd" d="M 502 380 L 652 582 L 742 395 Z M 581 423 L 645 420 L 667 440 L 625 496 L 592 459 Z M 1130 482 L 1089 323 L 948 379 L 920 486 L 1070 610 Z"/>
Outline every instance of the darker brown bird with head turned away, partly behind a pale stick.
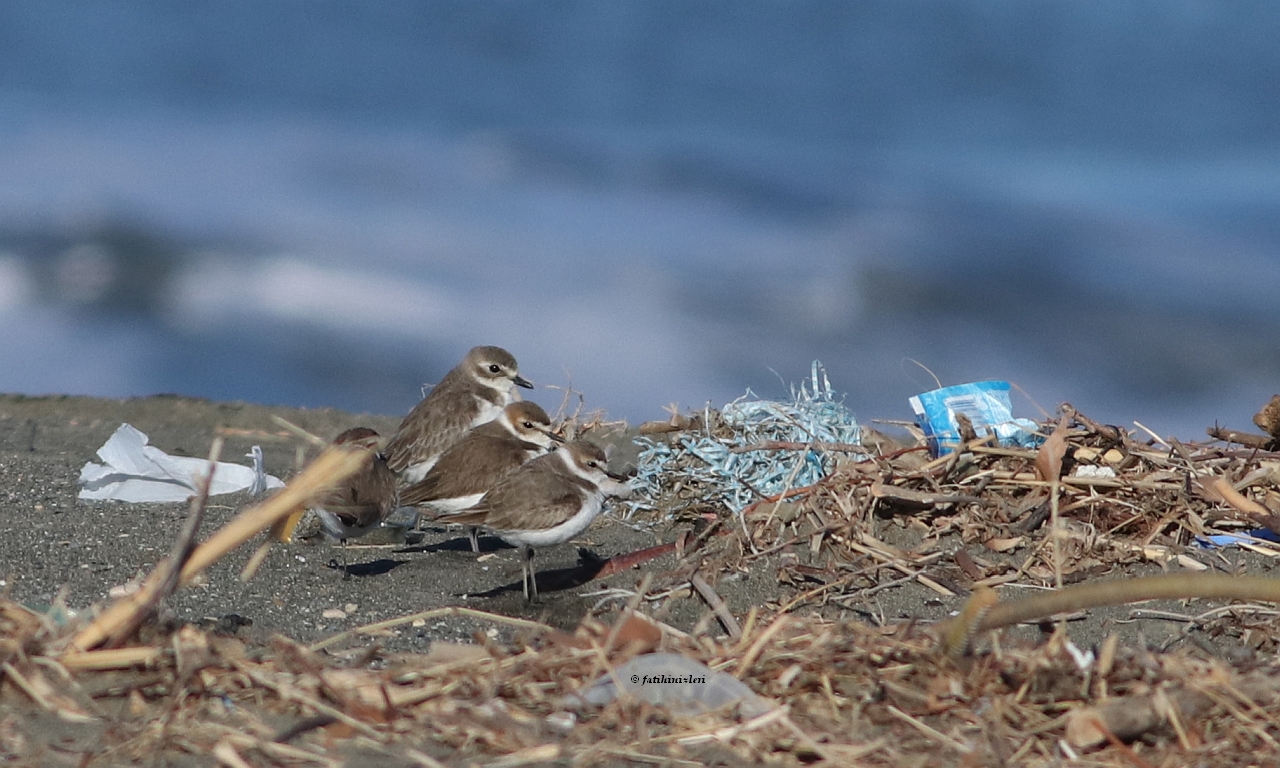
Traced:
<path fill-rule="evenodd" d="M 333 443 L 369 452 L 369 461 L 358 472 L 311 507 L 325 532 L 346 541 L 376 529 L 396 509 L 396 474 L 378 452 L 378 433 L 366 426 L 348 429 Z"/>

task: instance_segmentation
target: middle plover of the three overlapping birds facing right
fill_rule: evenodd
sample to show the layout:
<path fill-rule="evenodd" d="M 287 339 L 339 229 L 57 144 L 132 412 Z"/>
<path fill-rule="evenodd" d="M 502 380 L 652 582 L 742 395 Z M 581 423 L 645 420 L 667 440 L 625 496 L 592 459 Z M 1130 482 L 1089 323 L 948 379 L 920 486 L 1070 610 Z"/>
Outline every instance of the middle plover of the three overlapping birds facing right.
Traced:
<path fill-rule="evenodd" d="M 562 442 L 552 433 L 550 416 L 541 406 L 511 403 L 497 419 L 472 429 L 440 454 L 422 480 L 401 492 L 401 504 L 436 515 L 468 509 L 506 475 Z M 480 552 L 475 527 L 468 529 L 471 550 Z"/>

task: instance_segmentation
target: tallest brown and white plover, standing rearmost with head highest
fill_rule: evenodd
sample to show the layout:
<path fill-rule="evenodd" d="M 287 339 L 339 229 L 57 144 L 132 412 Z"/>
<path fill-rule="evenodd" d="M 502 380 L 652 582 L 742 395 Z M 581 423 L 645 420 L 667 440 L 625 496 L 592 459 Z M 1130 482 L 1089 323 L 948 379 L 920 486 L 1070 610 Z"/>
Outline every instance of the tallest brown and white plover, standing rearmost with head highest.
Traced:
<path fill-rule="evenodd" d="M 497 419 L 515 399 L 512 387 L 534 388 L 520 376 L 511 352 L 472 347 L 401 422 L 384 451 L 387 466 L 401 480 L 417 483 L 467 430 Z"/>

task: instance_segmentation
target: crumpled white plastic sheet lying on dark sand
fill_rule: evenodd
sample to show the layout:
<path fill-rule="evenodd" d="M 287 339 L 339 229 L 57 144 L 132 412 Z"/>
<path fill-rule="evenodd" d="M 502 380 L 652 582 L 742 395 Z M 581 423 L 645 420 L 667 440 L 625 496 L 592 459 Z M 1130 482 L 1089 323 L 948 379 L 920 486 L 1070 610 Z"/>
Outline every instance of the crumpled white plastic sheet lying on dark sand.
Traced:
<path fill-rule="evenodd" d="M 262 449 L 257 445 L 248 454 L 252 467 L 218 462 L 209 495 L 250 489 L 255 494 L 283 488 L 279 477 L 262 470 Z M 97 449 L 102 463 L 88 462 L 81 470 L 82 499 L 115 502 L 182 502 L 196 494 L 196 484 L 209 471 L 209 461 L 187 456 L 169 456 L 147 445 L 147 435 L 134 426 L 122 424 Z"/>

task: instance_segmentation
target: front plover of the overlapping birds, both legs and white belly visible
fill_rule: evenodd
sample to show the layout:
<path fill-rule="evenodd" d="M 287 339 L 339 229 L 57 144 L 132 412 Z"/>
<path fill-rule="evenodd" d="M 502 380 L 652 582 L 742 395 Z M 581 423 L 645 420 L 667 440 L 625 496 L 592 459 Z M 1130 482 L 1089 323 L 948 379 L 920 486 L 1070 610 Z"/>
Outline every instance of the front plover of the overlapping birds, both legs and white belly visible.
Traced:
<path fill-rule="evenodd" d="M 628 490 L 595 443 L 575 440 L 522 465 L 467 512 L 442 521 L 481 525 L 521 550 L 525 598 L 538 598 L 534 548 L 563 544 L 591 525 L 604 497 Z"/>

